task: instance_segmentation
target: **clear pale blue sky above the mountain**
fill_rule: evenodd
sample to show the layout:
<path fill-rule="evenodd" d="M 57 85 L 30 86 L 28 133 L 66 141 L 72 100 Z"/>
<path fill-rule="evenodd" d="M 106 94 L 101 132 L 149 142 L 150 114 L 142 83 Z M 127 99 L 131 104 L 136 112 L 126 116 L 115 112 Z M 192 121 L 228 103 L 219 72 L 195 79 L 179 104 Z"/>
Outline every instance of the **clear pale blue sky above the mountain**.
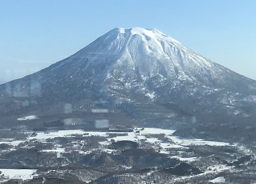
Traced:
<path fill-rule="evenodd" d="M 117 27 L 156 28 L 256 79 L 255 0 L 1 0 L 0 83 L 66 58 Z"/>

